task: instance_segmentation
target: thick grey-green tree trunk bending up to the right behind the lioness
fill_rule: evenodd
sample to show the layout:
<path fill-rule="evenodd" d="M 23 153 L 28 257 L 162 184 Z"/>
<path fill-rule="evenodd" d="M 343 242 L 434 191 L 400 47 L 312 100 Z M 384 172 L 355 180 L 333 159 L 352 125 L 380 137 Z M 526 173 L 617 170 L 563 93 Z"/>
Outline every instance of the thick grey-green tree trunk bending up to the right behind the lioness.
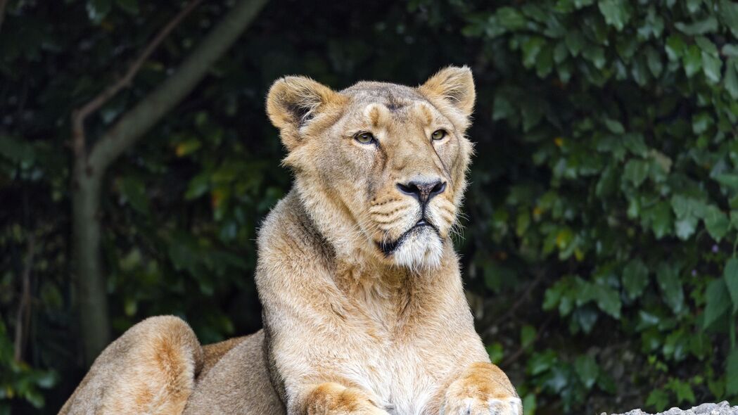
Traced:
<path fill-rule="evenodd" d="M 194 1 L 194 0 L 193 0 Z M 164 80 L 153 92 L 125 112 L 113 126 L 105 131 L 91 148 L 86 148 L 83 117 L 74 115 L 75 166 L 72 178 L 72 230 L 75 243 L 75 270 L 77 287 L 75 295 L 79 303 L 80 329 L 83 340 L 83 357 L 88 365 L 108 344 L 110 322 L 108 318 L 106 278 L 100 253 L 102 227 L 100 216 L 101 189 L 109 165 L 120 154 L 131 148 L 151 127 L 192 91 L 207 74 L 208 69 L 236 41 L 246 27 L 266 4 L 267 0 L 240 0 L 227 11 L 224 18 L 213 27 L 199 45 L 187 55 L 179 69 Z M 162 30 L 163 32 L 163 30 Z M 147 48 L 148 49 L 148 48 Z M 144 51 L 145 53 L 146 51 Z M 133 77 L 140 67 L 134 63 L 129 70 Z M 127 74 L 127 75 L 128 75 Z M 126 76 L 120 85 L 126 85 Z M 130 80 L 130 79 L 129 79 Z M 128 81 L 129 81 L 128 80 Z M 115 85 L 89 104 L 94 111 L 99 102 L 108 99 L 116 91 Z M 74 124 L 75 120 L 77 123 Z M 81 120 L 81 121 L 79 121 Z"/>

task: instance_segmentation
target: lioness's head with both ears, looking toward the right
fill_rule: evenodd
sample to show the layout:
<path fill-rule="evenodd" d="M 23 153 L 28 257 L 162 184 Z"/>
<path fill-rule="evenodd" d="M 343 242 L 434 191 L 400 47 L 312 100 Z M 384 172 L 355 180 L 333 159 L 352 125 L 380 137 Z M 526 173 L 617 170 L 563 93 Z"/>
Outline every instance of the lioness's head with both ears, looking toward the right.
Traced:
<path fill-rule="evenodd" d="M 412 88 L 359 82 L 336 92 L 277 80 L 266 109 L 308 214 L 339 255 L 435 267 L 455 226 L 472 144 L 469 68 Z"/>

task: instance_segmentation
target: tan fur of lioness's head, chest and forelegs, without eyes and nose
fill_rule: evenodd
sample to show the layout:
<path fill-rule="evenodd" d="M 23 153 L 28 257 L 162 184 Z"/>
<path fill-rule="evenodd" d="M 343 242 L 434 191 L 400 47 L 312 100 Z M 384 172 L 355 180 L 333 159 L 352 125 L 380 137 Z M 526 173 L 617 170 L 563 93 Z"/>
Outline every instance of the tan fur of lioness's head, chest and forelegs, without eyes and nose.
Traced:
<path fill-rule="evenodd" d="M 418 88 L 272 86 L 267 109 L 295 186 L 261 228 L 256 281 L 289 413 L 522 413 L 474 331 L 449 239 L 474 100 L 466 68 Z M 447 136 L 436 142 L 438 129 Z M 362 132 L 377 143 L 354 140 Z M 425 209 L 435 231 L 407 233 L 422 207 L 398 184 L 413 180 L 446 184 Z"/>

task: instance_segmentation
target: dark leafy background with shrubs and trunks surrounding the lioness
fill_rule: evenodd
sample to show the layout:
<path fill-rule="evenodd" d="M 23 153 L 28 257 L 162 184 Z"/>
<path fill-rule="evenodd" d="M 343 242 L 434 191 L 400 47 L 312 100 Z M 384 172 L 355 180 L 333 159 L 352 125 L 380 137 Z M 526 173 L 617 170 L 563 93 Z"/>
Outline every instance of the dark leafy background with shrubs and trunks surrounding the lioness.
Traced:
<path fill-rule="evenodd" d="M 449 64 L 478 97 L 455 243 L 525 414 L 738 402 L 738 4 L 495 3 L 0 0 L 0 414 L 54 414 L 151 315 L 261 327 L 275 79 Z"/>

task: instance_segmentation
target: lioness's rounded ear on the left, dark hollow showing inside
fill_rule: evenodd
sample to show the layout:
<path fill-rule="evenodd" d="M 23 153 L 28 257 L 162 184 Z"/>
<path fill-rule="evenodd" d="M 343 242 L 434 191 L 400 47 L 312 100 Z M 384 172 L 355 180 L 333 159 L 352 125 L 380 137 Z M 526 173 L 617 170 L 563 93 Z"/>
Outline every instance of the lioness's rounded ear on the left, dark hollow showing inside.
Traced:
<path fill-rule="evenodd" d="M 287 149 L 292 150 L 300 141 L 300 127 L 339 97 L 338 92 L 310 78 L 288 76 L 276 80 L 269 89 L 266 113 L 272 124 L 280 129 Z"/>

